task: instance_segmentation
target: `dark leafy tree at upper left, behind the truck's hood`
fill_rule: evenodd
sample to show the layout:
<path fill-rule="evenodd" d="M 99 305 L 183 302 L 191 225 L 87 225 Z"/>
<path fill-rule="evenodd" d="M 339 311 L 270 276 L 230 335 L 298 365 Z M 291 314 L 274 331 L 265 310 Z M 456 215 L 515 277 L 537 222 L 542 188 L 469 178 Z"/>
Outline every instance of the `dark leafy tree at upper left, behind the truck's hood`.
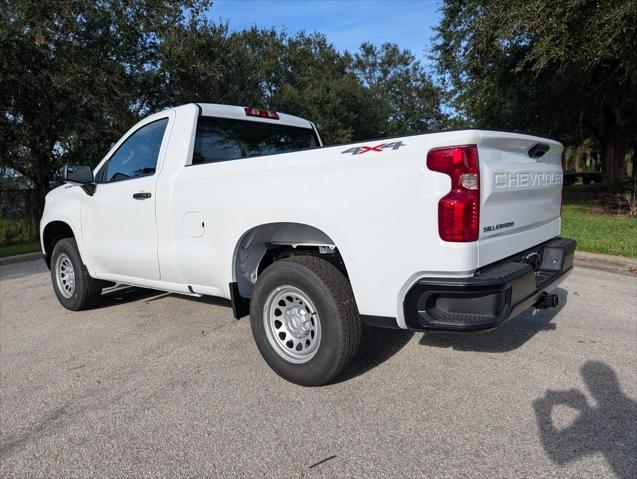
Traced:
<path fill-rule="evenodd" d="M 95 164 L 149 109 L 162 32 L 206 0 L 2 1 L 0 167 L 40 193 L 65 162 Z"/>

